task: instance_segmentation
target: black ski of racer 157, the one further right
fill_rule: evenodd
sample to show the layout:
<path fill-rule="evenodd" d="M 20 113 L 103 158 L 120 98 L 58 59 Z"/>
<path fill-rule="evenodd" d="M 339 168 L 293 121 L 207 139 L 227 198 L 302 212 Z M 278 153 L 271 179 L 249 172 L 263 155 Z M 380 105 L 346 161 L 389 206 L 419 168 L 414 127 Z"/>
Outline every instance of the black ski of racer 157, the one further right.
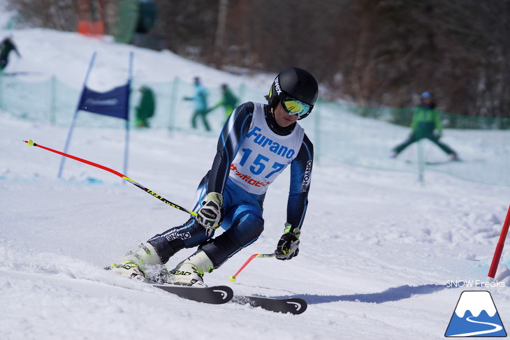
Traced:
<path fill-rule="evenodd" d="M 267 311 L 292 314 L 303 313 L 308 306 L 307 302 L 299 297 L 278 299 L 262 296 L 235 295 L 232 301 L 236 304 L 249 304 L 253 307 L 261 307 Z"/>

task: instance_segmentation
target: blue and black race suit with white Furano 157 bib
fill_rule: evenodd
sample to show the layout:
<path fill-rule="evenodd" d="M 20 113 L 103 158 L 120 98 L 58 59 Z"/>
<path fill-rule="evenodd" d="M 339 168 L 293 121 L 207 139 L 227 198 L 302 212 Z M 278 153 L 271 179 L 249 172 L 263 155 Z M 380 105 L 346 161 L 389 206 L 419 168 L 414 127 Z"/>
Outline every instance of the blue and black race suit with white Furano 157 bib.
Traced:
<path fill-rule="evenodd" d="M 236 108 L 221 131 L 212 168 L 198 186 L 194 211 L 200 209 L 207 193 L 222 193 L 221 228 L 225 232 L 207 237 L 205 229 L 191 217 L 182 226 L 149 240 L 163 263 L 181 249 L 200 246 L 217 268 L 255 242 L 264 228 L 265 192 L 289 164 L 286 222 L 301 228 L 307 210 L 313 145 L 297 123 L 279 134 L 268 124 L 270 114 L 268 105 L 261 103 L 248 102 Z"/>

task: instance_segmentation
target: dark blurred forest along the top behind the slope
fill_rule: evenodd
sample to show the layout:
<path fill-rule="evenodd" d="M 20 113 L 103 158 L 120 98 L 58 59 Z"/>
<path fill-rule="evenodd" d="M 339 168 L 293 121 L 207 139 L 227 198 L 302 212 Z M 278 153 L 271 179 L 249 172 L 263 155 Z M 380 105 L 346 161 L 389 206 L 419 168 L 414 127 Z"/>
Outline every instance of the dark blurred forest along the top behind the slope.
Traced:
<path fill-rule="evenodd" d="M 34 26 L 73 31 L 77 1 L 10 6 Z M 154 1 L 163 47 L 205 64 L 300 66 L 321 96 L 366 107 L 408 107 L 433 91 L 442 110 L 510 117 L 510 0 Z"/>

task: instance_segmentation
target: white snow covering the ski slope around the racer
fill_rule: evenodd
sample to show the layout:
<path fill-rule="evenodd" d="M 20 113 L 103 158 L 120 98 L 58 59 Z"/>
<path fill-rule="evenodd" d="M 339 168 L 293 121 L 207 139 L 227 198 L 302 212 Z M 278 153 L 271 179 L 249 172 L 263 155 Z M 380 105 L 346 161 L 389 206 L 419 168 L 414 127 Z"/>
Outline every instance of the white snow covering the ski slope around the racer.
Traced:
<path fill-rule="evenodd" d="M 45 29 L 14 35 L 23 58 L 13 57 L 13 67 L 44 69 L 77 87 L 94 50 L 108 56 L 99 65 L 105 83 L 124 79 L 118 59 L 129 50 L 143 61 L 135 77 L 150 81 L 197 72 L 218 84 L 251 81 L 108 39 Z M 314 167 L 299 256 L 256 258 L 230 283 L 228 276 L 250 255 L 275 249 L 285 222 L 284 173 L 268 191 L 263 235 L 205 281 L 242 294 L 304 297 L 307 311 L 291 316 L 181 300 L 103 270 L 187 215 L 75 161 L 68 160 L 57 179 L 60 156 L 22 142 L 61 150 L 66 134 L 67 128 L 0 112 L 0 339 L 442 339 L 460 293 L 478 289 L 490 291 L 504 325 L 510 324 L 508 275 L 497 287 L 451 288 L 457 280 L 488 284 L 508 188 L 437 173 L 423 185 L 414 174 L 323 159 Z M 456 138 L 470 136 L 459 131 Z M 69 152 L 122 171 L 123 143 L 122 129 L 78 127 Z M 214 138 L 200 135 L 133 131 L 128 175 L 189 207 L 215 148 Z M 177 253 L 168 267 L 193 252 Z M 507 249 L 502 263 L 509 261 Z"/>

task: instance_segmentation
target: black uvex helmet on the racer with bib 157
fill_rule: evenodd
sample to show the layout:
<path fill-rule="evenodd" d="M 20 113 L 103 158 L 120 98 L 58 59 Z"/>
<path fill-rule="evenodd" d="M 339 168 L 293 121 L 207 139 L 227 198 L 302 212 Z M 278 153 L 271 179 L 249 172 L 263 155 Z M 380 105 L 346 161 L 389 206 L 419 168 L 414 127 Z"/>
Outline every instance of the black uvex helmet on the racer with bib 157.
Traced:
<path fill-rule="evenodd" d="M 270 108 L 276 108 L 286 96 L 291 96 L 311 105 L 312 108 L 309 112 L 312 112 L 318 94 L 319 86 L 312 73 L 303 70 L 303 68 L 289 67 L 275 77 L 269 95 L 265 98 L 268 100 Z M 309 112 L 299 119 L 307 117 Z"/>

